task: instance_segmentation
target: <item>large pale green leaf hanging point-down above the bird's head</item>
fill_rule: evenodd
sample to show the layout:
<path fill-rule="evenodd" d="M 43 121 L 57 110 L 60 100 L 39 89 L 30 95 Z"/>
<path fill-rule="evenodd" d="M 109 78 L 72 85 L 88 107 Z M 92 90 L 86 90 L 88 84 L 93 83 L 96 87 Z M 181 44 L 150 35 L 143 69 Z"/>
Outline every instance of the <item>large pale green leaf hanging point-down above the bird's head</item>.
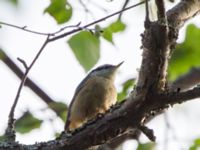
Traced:
<path fill-rule="evenodd" d="M 68 43 L 85 71 L 90 70 L 99 60 L 100 41 L 91 32 L 81 31 L 72 36 Z"/>

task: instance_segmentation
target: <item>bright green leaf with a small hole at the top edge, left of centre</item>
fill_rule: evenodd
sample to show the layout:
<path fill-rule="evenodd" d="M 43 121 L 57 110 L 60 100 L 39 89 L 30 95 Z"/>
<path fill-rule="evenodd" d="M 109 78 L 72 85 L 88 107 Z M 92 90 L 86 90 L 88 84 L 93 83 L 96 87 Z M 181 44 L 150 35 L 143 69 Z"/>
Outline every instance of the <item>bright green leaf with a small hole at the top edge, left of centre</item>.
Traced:
<path fill-rule="evenodd" d="M 62 24 L 71 18 L 72 7 L 66 0 L 51 0 L 44 12 L 49 13 L 58 24 Z"/>

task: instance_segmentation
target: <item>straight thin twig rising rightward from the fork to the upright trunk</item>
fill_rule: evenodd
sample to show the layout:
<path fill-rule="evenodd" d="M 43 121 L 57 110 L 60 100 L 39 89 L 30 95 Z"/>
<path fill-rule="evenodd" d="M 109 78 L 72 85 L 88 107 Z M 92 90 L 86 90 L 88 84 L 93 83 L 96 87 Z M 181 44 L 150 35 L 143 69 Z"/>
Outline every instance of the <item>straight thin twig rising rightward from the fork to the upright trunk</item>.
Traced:
<path fill-rule="evenodd" d="M 85 29 L 85 28 L 87 28 L 87 27 L 89 27 L 89 26 L 92 26 L 92 25 L 97 24 L 97 23 L 99 23 L 99 22 L 101 22 L 101 21 L 104 21 L 104 20 L 106 20 L 106 19 L 108 19 L 108 18 L 110 18 L 110 17 L 113 17 L 113 16 L 115 16 L 115 15 L 117 15 L 117 14 L 123 12 L 123 11 L 127 11 L 127 10 L 129 10 L 129 9 L 131 9 L 131 8 L 134 8 L 134 7 L 136 7 L 136 6 L 139 6 L 139 5 L 143 4 L 144 2 L 145 2 L 145 1 L 142 1 L 142 2 L 140 2 L 140 3 L 137 3 L 137 4 L 135 4 L 135 5 L 129 6 L 129 7 L 125 8 L 125 9 L 120 10 L 120 11 L 117 11 L 117 12 L 115 12 L 115 13 L 112 13 L 112 14 L 106 16 L 106 17 L 103 17 L 103 18 L 101 18 L 101 19 L 98 19 L 98 20 L 96 20 L 96 21 L 94 21 L 94 22 L 91 22 L 91 23 L 89 23 L 89 24 L 87 24 L 87 25 L 85 25 L 85 26 L 82 26 L 82 27 L 78 28 L 78 29 L 74 29 L 74 30 L 72 30 L 72 31 L 69 31 L 69 32 L 63 33 L 63 34 L 61 34 L 61 35 L 55 36 L 55 37 L 53 37 L 53 38 L 50 38 L 49 41 L 52 42 L 52 41 L 55 41 L 55 40 L 57 40 L 57 39 L 64 38 L 64 37 L 66 37 L 66 36 L 68 36 L 68 35 L 70 35 L 70 34 L 73 34 L 73 33 L 75 33 L 75 32 L 81 31 L 82 29 Z"/>

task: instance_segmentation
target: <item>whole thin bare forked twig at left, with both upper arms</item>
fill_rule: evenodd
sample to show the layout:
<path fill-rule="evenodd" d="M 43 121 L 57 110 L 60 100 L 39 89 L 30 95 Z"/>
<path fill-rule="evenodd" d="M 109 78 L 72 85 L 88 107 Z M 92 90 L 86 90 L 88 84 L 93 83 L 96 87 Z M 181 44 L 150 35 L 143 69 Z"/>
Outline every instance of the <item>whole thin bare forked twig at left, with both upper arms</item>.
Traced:
<path fill-rule="evenodd" d="M 67 32 L 67 33 L 63 33 L 63 34 L 58 35 L 58 36 L 55 36 L 55 37 L 53 37 L 53 38 L 50 38 L 50 36 L 54 36 L 54 34 L 53 34 L 53 35 L 52 35 L 52 34 L 47 34 L 47 35 L 46 35 L 46 36 L 47 36 L 47 39 L 45 40 L 45 42 L 43 43 L 42 47 L 40 48 L 40 50 L 39 50 L 38 53 L 36 54 L 35 58 L 33 59 L 33 61 L 32 61 L 31 64 L 30 64 L 30 66 L 27 67 L 26 64 L 25 64 L 25 62 L 21 60 L 21 62 L 26 66 L 26 71 L 25 71 L 25 73 L 24 73 L 24 75 L 23 75 L 23 77 L 22 77 L 22 80 L 21 80 L 21 83 L 20 83 L 20 85 L 19 85 L 19 88 L 18 88 L 16 97 L 15 97 L 14 103 L 13 103 L 13 105 L 12 105 L 12 107 L 11 107 L 11 110 L 10 110 L 10 113 L 9 113 L 9 117 L 8 117 L 8 126 L 7 126 L 6 133 L 5 133 L 5 136 L 6 136 L 6 138 L 7 138 L 7 141 L 15 141 L 15 130 L 14 130 L 14 121 L 15 121 L 15 119 L 14 119 L 14 111 L 15 111 L 15 108 L 16 108 L 16 106 L 17 106 L 17 103 L 18 103 L 18 100 L 19 100 L 19 97 L 20 97 L 21 90 L 22 90 L 22 88 L 23 88 L 23 86 L 24 86 L 24 84 L 25 84 L 25 81 L 26 81 L 26 79 L 27 79 L 27 75 L 28 75 L 29 71 L 31 70 L 31 68 L 33 67 L 33 65 L 35 64 L 35 62 L 37 61 L 37 59 L 39 58 L 39 56 L 40 56 L 40 54 L 42 53 L 42 51 L 44 50 L 44 48 L 46 47 L 46 45 L 47 45 L 49 42 L 53 42 L 53 41 L 55 41 L 55 40 L 58 40 L 58 39 L 60 39 L 60 38 L 63 38 L 63 37 L 68 36 L 68 35 L 70 35 L 70 34 L 73 34 L 73 33 L 75 33 L 75 32 L 81 31 L 81 30 L 83 30 L 83 29 L 85 29 L 85 28 L 87 28 L 87 27 L 89 27 L 89 26 L 91 26 L 91 25 L 94 25 L 94 24 L 96 24 L 96 23 L 98 23 L 98 22 L 104 21 L 105 19 L 110 18 L 110 17 L 112 17 L 112 16 L 115 16 L 115 15 L 119 14 L 119 13 L 122 12 L 122 11 L 129 10 L 129 9 L 134 8 L 134 7 L 136 7 L 136 6 L 138 6 L 138 5 L 141 5 L 141 4 L 143 4 L 143 3 L 144 3 L 144 2 L 137 3 L 137 4 L 135 4 L 135 5 L 132 5 L 132 6 L 128 7 L 128 8 L 125 8 L 125 9 L 123 9 L 123 10 L 120 10 L 120 11 L 118 11 L 118 12 L 115 12 L 115 13 L 109 15 L 109 16 L 106 16 L 106 17 L 101 18 L 101 19 L 99 19 L 99 20 L 97 20 L 97 21 L 94 21 L 94 22 L 92 22 L 92 23 L 89 23 L 89 24 L 87 24 L 87 25 L 85 25 L 85 26 L 83 26 L 83 27 L 78 27 L 78 29 L 71 30 L 71 31 L 69 31 L 69 32 Z M 35 31 L 26 30 L 26 26 L 25 26 L 25 27 L 18 27 L 18 26 L 15 26 L 15 25 L 7 24 L 7 23 L 2 23 L 2 22 L 0 22 L 0 23 L 1 23 L 1 24 L 4 24 L 4 25 L 7 25 L 7 26 L 15 27 L 15 28 L 18 28 L 18 29 L 22 29 L 22 30 L 27 31 L 27 32 L 31 32 L 31 33 L 35 33 L 35 34 L 42 34 L 42 33 L 38 33 L 38 32 L 35 32 Z M 78 23 L 78 26 L 79 26 L 79 23 Z M 63 28 L 63 30 L 64 30 L 64 29 L 65 29 L 65 28 Z M 61 32 L 61 31 L 62 31 L 62 28 L 61 28 L 59 31 L 55 32 L 55 33 L 59 33 L 59 32 Z M 42 35 L 45 35 L 45 34 L 42 34 Z"/>

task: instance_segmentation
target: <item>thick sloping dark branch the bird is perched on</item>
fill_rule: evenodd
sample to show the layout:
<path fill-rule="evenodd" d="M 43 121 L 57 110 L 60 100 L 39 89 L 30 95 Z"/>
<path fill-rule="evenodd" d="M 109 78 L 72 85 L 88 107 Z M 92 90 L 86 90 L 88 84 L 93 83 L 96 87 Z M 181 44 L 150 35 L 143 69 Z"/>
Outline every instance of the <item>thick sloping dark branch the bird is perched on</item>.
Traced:
<path fill-rule="evenodd" d="M 97 118 L 93 123 L 88 123 L 82 129 L 72 133 L 72 136 L 34 145 L 16 144 L 14 149 L 86 149 L 89 146 L 109 141 L 117 135 L 128 132 L 130 129 L 137 129 L 140 121 L 147 114 L 150 114 L 151 111 L 163 110 L 169 105 L 172 106 L 198 97 L 200 97 L 199 87 L 182 93 L 152 95 L 145 100 L 141 100 L 139 97 L 137 97 L 137 99 L 129 99 L 120 108 L 113 110 L 111 113 L 105 114 L 104 117 Z M 10 147 L 9 145 L 0 145 L 0 149 L 6 150 L 10 149 Z"/>

